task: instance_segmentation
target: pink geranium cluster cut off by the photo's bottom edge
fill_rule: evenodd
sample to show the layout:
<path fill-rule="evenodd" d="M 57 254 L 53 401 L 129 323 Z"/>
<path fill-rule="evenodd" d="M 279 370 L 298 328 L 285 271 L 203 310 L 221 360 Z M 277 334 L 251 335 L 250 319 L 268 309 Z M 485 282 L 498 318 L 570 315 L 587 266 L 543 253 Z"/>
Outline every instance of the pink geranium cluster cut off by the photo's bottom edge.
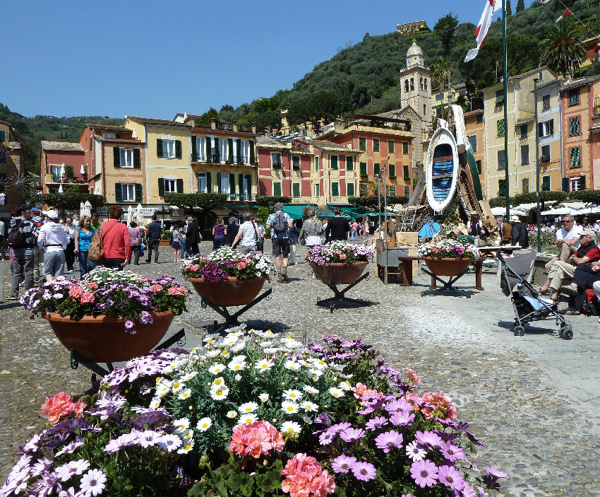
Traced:
<path fill-rule="evenodd" d="M 325 497 L 335 490 L 333 477 L 306 454 L 289 459 L 281 474 L 285 476 L 281 488 L 290 497 Z"/>

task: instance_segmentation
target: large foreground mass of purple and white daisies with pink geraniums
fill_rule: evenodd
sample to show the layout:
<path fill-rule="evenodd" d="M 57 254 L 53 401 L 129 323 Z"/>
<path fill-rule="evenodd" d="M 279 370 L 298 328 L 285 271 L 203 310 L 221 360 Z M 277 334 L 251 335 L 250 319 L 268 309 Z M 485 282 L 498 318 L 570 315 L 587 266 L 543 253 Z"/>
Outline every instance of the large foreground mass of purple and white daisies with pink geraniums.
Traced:
<path fill-rule="evenodd" d="M 506 476 L 469 459 L 450 397 L 361 340 L 228 331 L 129 361 L 85 407 L 47 399 L 3 495 L 476 497 Z"/>

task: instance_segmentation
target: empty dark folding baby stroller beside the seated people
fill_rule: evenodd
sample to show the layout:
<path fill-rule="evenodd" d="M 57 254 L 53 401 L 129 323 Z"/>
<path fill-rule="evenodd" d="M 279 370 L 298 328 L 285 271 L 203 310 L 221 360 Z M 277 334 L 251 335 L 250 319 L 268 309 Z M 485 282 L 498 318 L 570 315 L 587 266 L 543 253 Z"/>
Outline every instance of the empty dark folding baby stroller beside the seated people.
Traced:
<path fill-rule="evenodd" d="M 558 336 L 565 340 L 572 339 L 571 325 L 558 313 L 558 305 L 551 298 L 541 296 L 528 281 L 536 252 L 503 257 L 498 251 L 496 257 L 500 262 L 500 288 L 505 296 L 510 296 L 512 308 L 515 309 L 515 327 L 512 328 L 515 337 L 525 334 L 526 322 L 545 320 L 553 315 L 556 324 L 560 324 Z"/>

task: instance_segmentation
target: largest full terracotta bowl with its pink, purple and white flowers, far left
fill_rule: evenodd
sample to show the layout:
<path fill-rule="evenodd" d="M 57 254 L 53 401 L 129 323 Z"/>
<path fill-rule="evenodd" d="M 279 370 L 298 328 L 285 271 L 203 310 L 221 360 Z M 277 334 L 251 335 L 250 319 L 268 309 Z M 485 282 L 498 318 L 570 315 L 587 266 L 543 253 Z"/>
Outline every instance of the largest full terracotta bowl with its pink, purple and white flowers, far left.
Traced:
<path fill-rule="evenodd" d="M 148 353 L 186 310 L 188 291 L 171 276 L 149 279 L 98 267 L 83 280 L 56 278 L 20 302 L 48 320 L 56 337 L 94 362 Z"/>

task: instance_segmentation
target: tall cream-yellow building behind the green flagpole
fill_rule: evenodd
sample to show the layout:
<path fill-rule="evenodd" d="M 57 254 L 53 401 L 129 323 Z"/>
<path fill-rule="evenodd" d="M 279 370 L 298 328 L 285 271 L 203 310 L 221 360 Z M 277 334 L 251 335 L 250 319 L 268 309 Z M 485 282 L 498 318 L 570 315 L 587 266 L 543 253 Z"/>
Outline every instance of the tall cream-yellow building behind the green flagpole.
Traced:
<path fill-rule="evenodd" d="M 505 182 L 504 106 L 508 111 L 508 193 L 510 196 L 535 190 L 535 105 L 534 79 L 539 84 L 556 80 L 547 67 L 528 71 L 508 79 L 508 101 L 503 84 L 490 86 L 484 93 L 485 172 L 484 196 L 503 196 Z M 556 131 L 554 131 L 556 133 Z M 559 136 L 560 139 L 560 136 Z M 555 189 L 558 189 L 556 187 Z"/>

